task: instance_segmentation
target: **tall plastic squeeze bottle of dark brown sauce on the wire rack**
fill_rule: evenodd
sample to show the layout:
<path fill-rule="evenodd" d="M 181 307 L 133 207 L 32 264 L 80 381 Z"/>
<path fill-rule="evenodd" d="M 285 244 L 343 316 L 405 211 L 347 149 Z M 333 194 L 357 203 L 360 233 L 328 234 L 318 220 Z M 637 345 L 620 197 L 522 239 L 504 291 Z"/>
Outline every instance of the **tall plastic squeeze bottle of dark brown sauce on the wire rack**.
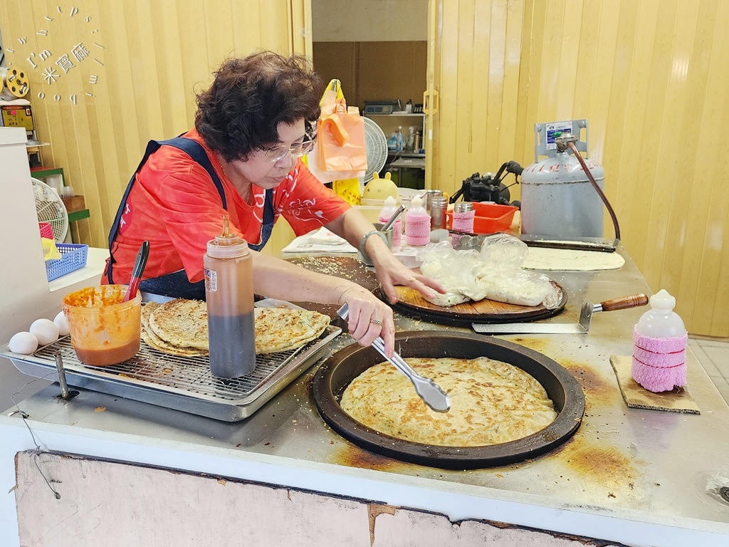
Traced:
<path fill-rule="evenodd" d="M 223 215 L 223 233 L 208 241 L 203 259 L 210 371 L 220 378 L 238 378 L 256 368 L 251 260 L 246 240 L 230 233 Z"/>

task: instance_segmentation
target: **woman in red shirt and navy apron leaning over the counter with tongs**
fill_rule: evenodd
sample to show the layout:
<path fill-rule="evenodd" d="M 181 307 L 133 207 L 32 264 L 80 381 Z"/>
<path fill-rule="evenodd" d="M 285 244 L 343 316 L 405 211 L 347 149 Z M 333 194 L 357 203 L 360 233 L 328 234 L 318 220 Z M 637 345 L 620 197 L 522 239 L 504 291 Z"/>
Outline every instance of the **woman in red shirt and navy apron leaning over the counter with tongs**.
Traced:
<path fill-rule="evenodd" d="M 397 260 L 356 209 L 314 177 L 300 157 L 313 150 L 321 81 L 300 56 L 260 52 L 225 61 L 197 96 L 195 128 L 150 141 L 109 233 L 104 282 L 130 279 L 142 241 L 149 258 L 139 288 L 177 298 L 205 298 L 203 255 L 222 228 L 254 250 L 254 291 L 284 300 L 347 303 L 348 328 L 362 345 L 382 335 L 394 349 L 392 311 L 358 284 L 316 274 L 259 252 L 283 215 L 297 235 L 325 226 L 365 250 L 383 291 L 394 285 L 434 295 L 443 287 Z"/>

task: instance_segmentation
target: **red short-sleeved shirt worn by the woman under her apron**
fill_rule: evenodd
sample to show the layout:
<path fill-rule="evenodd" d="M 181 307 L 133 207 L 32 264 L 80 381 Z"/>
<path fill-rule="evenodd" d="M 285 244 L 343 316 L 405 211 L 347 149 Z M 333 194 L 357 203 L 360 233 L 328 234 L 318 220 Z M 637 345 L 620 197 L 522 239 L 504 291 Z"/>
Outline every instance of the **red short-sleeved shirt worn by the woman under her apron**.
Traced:
<path fill-rule="evenodd" d="M 136 176 L 112 245 L 114 282 L 130 279 L 142 241 L 149 241 L 144 279 L 184 268 L 187 279 L 203 279 L 208 241 L 222 233 L 222 215 L 230 230 L 251 244 L 260 244 L 265 190 L 252 186 L 254 205 L 241 198 L 222 171 L 217 155 L 195 129 L 184 137 L 198 141 L 219 176 L 227 212 L 205 168 L 176 147 L 163 146 L 149 156 Z M 283 214 L 297 236 L 340 217 L 350 205 L 316 179 L 301 160 L 273 190 L 274 222 Z M 106 275 L 103 282 L 108 282 Z"/>

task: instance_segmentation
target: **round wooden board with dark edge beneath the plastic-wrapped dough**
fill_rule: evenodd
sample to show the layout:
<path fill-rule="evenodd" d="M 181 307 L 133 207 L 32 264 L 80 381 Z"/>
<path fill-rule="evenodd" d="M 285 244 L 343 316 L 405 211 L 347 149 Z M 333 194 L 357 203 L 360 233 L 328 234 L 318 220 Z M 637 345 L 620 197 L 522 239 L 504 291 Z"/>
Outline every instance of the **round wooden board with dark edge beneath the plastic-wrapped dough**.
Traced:
<path fill-rule="evenodd" d="M 410 287 L 396 287 L 398 302 L 393 307 L 405 315 L 414 315 L 434 323 L 448 325 L 469 326 L 471 323 L 527 322 L 552 317 L 564 310 L 567 295 L 559 285 L 557 287 L 562 298 L 556 309 L 547 309 L 541 304 L 539 306 L 518 306 L 488 299 L 443 308 L 430 303 L 418 291 Z"/>

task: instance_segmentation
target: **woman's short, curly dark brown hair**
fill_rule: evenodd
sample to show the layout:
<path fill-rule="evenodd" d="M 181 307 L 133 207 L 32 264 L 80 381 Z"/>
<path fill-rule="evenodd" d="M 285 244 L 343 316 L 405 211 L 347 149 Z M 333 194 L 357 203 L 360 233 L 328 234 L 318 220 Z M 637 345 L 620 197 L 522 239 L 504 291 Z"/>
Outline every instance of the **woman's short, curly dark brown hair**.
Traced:
<path fill-rule="evenodd" d="M 303 55 L 270 51 L 227 59 L 208 90 L 198 93 L 195 128 L 226 161 L 278 142 L 278 124 L 319 119 L 321 78 Z"/>

